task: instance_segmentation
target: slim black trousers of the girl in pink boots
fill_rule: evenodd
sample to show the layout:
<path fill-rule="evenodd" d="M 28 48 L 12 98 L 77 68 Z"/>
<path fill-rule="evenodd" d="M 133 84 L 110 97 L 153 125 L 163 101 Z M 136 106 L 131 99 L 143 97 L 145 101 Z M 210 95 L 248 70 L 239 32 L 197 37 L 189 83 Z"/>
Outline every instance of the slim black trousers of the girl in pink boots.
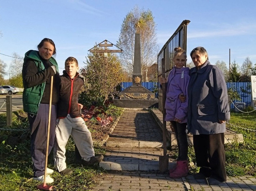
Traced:
<path fill-rule="evenodd" d="M 187 123 L 178 123 L 171 121 L 178 145 L 178 161 L 185 161 L 188 159 L 188 139 L 186 133 Z"/>

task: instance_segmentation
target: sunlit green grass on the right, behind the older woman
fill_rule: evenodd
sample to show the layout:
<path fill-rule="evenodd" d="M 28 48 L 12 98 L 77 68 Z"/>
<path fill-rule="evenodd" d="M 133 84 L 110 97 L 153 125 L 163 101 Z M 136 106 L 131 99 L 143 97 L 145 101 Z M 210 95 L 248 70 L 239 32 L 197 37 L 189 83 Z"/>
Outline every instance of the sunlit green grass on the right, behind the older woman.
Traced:
<path fill-rule="evenodd" d="M 228 176 L 252 175 L 256 177 L 256 112 L 231 112 L 231 120 L 227 128 L 243 134 L 244 142 L 225 144 L 226 172 Z M 172 146 L 172 155 L 178 157 L 177 146 Z M 193 146 L 188 148 L 190 172 L 199 172 L 196 166 Z"/>

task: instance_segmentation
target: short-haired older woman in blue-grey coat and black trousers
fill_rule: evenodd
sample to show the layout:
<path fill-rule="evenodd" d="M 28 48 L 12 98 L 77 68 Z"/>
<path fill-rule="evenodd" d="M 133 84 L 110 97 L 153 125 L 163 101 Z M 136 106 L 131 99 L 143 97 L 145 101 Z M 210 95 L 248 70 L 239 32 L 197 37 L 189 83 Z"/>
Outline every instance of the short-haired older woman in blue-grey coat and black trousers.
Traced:
<path fill-rule="evenodd" d="M 203 47 L 190 53 L 195 64 L 188 84 L 188 133 L 193 134 L 196 178 L 212 176 L 226 181 L 224 132 L 230 119 L 226 83 L 220 69 L 211 65 Z"/>

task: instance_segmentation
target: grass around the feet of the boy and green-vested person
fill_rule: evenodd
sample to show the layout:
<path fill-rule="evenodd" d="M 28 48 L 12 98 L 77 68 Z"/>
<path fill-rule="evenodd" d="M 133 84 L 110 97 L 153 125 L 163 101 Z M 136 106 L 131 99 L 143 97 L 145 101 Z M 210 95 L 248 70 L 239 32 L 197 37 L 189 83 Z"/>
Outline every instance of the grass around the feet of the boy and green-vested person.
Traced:
<path fill-rule="evenodd" d="M 36 187 L 42 184 L 42 182 L 32 179 L 33 165 L 30 155 L 28 122 L 26 118 L 18 118 L 13 114 L 12 127 L 7 128 L 5 124 L 6 115 L 0 114 L 0 190 L 37 190 Z M 93 128 L 95 125 L 93 123 L 93 125 L 88 125 L 88 127 L 91 126 Z M 69 139 L 66 149 L 67 166 L 73 170 L 73 174 L 61 176 L 59 173 L 54 172 L 51 175 L 54 182 L 50 185 L 54 186 L 55 190 L 63 191 L 80 191 L 92 188 L 96 184 L 96 178 L 102 175 L 103 169 L 98 166 L 76 165 L 74 163 L 75 154 L 72 138 Z M 104 154 L 105 152 L 104 148 L 100 146 L 94 146 L 94 150 L 95 154 Z M 52 152 L 48 157 L 48 167 L 55 169 Z"/>

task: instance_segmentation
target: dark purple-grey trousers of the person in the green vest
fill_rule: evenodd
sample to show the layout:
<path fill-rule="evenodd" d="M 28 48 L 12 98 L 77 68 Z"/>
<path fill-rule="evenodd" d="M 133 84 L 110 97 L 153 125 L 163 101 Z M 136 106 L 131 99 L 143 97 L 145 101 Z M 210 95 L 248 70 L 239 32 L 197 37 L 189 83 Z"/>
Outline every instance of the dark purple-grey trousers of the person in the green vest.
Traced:
<path fill-rule="evenodd" d="M 50 136 L 48 155 L 53 148 L 56 129 L 56 105 L 51 106 Z M 34 177 L 44 175 L 49 104 L 39 104 L 37 115 L 28 113 L 31 130 L 31 157 Z"/>

